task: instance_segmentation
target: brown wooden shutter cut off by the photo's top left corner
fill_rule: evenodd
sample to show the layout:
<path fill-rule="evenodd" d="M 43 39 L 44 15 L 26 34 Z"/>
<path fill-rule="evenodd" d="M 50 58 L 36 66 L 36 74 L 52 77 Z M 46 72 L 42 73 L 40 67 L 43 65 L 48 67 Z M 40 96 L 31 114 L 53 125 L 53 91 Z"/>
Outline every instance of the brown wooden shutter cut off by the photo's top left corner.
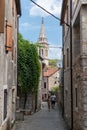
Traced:
<path fill-rule="evenodd" d="M 4 32 L 5 0 L 0 0 L 0 33 Z"/>

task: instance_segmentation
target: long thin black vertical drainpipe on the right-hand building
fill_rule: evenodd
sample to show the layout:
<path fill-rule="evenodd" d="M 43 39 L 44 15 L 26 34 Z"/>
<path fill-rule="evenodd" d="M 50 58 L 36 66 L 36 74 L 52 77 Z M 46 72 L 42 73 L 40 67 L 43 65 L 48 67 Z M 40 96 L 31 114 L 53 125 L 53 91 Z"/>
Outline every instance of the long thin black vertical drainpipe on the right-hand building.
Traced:
<path fill-rule="evenodd" d="M 71 130 L 73 130 L 73 77 L 72 77 L 72 0 L 70 0 L 70 78 L 71 78 Z"/>

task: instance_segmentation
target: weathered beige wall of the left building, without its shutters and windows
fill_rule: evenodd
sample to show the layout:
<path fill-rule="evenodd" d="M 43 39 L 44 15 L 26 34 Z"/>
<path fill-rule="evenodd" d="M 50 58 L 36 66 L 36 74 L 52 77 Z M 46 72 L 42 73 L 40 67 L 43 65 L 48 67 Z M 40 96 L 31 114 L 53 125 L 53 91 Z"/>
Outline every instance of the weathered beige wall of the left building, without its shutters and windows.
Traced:
<path fill-rule="evenodd" d="M 14 2 L 15 3 L 15 2 Z M 6 53 L 6 22 L 12 26 L 12 39 L 14 42 L 13 59 L 12 51 Z M 7 89 L 7 116 L 4 119 L 4 90 Z M 4 33 L 0 34 L 0 130 L 5 130 L 9 120 L 15 120 L 15 104 L 17 91 L 17 12 L 14 5 L 12 14 L 12 0 L 5 0 Z"/>

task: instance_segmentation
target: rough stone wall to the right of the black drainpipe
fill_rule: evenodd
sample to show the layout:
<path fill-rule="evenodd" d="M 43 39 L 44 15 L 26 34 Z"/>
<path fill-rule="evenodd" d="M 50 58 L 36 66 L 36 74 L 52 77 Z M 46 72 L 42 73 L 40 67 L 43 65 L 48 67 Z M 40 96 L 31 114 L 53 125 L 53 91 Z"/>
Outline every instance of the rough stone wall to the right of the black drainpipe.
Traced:
<path fill-rule="evenodd" d="M 87 5 L 82 5 L 73 26 L 73 126 L 87 129 Z M 77 92 L 76 92 L 77 91 Z"/>

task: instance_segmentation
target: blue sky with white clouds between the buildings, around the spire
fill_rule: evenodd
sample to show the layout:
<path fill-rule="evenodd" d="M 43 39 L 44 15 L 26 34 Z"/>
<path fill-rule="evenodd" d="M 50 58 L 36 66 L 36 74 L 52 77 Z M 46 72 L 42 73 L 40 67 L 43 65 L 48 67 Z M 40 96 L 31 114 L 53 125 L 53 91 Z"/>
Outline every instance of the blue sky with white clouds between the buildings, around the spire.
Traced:
<path fill-rule="evenodd" d="M 60 18 L 62 0 L 33 0 L 47 11 Z M 61 59 L 62 27 L 60 21 L 37 7 L 30 0 L 21 0 L 22 15 L 19 18 L 19 32 L 26 40 L 36 43 L 44 18 L 45 33 L 49 43 L 49 59 Z"/>

